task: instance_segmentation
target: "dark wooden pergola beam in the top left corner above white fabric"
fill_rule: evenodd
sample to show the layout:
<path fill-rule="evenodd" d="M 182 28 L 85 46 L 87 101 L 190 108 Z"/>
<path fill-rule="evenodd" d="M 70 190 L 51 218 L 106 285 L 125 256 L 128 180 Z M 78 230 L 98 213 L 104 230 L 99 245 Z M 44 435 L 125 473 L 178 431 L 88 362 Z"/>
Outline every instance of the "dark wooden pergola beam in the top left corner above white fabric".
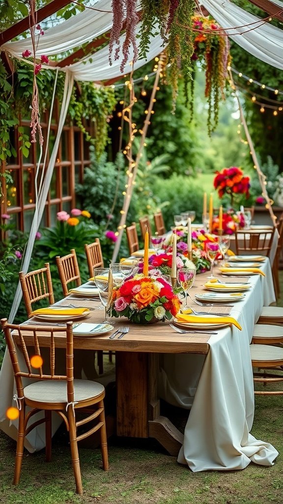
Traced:
<path fill-rule="evenodd" d="M 52 16 L 52 14 L 54 14 L 59 9 L 62 9 L 69 3 L 70 0 L 52 0 L 50 4 L 42 7 L 41 9 L 35 12 L 36 23 L 40 23 L 41 21 L 43 21 L 43 19 Z M 7 30 L 0 33 L 0 46 L 2 44 L 5 44 L 6 42 L 9 42 L 9 40 L 12 40 L 14 37 L 17 37 L 21 33 L 25 32 L 31 26 L 32 26 L 32 17 L 29 14 L 29 16 L 27 16 L 26 18 L 21 19 L 21 21 L 18 21 L 18 23 L 15 23 L 13 26 L 10 26 L 10 28 L 7 28 Z"/>

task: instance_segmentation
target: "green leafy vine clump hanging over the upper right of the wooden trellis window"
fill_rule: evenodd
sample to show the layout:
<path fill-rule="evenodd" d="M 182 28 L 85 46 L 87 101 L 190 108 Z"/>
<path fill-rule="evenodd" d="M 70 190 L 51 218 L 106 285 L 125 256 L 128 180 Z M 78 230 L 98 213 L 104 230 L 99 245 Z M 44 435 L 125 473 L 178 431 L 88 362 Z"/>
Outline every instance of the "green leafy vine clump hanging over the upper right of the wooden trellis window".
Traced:
<path fill-rule="evenodd" d="M 70 100 L 68 112 L 84 133 L 86 140 L 96 150 L 96 155 L 101 156 L 109 142 L 108 122 L 116 105 L 114 89 L 96 86 L 93 83 L 81 83 L 80 95 L 74 90 Z M 89 119 L 94 125 L 94 136 L 91 136 L 84 127 L 83 118 Z"/>

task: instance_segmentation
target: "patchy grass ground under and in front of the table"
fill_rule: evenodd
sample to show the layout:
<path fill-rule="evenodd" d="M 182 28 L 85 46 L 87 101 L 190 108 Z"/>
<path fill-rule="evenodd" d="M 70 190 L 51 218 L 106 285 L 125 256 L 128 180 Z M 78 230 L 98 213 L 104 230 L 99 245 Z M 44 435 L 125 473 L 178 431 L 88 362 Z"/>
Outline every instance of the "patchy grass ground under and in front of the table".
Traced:
<path fill-rule="evenodd" d="M 283 274 L 280 272 L 282 296 Z M 278 304 L 283 304 L 280 300 Z M 192 473 L 152 440 L 110 438 L 109 472 L 99 449 L 80 448 L 84 494 L 75 493 L 67 436 L 59 429 L 51 463 L 44 452 L 25 452 L 21 481 L 13 486 L 16 443 L 0 431 L 1 504 L 281 504 L 283 502 L 282 396 L 255 398 L 252 434 L 279 452 L 272 467 Z M 175 410 L 184 425 L 186 411 Z"/>

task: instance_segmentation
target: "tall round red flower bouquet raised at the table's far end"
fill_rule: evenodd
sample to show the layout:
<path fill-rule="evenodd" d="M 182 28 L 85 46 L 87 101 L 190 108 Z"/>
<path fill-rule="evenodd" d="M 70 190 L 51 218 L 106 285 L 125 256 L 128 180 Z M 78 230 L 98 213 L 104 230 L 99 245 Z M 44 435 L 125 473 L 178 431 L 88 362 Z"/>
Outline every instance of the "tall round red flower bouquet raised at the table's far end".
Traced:
<path fill-rule="evenodd" d="M 235 196 L 243 194 L 249 198 L 250 177 L 245 176 L 241 168 L 231 166 L 216 173 L 214 187 L 218 190 L 220 198 L 227 194 L 231 198 L 231 206 Z"/>

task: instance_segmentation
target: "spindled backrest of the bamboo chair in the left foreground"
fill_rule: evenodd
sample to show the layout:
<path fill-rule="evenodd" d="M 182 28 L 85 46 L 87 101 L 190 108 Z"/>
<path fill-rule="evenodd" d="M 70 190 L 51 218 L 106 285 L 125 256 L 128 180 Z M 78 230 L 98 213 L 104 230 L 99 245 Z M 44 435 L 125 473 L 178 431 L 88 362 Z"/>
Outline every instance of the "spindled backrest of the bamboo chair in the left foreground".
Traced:
<path fill-rule="evenodd" d="M 67 322 L 66 326 L 50 327 L 50 326 L 29 326 L 8 324 L 7 319 L 1 320 L 2 328 L 5 334 L 7 347 L 13 365 L 14 376 L 17 386 L 18 398 L 23 397 L 22 378 L 30 378 L 31 380 L 66 380 L 67 400 L 68 403 L 74 401 L 74 358 L 73 358 L 73 323 Z M 25 343 L 27 334 L 32 337 L 34 343 L 34 353 L 29 356 L 29 351 Z M 66 374 L 55 374 L 55 342 L 54 336 L 61 336 L 65 341 L 66 348 Z M 44 338 L 42 338 L 44 336 Z M 46 336 L 49 338 L 49 362 L 44 362 L 44 352 L 40 344 L 44 339 L 46 346 Z M 14 338 L 16 339 L 16 345 Z M 45 349 L 46 350 L 46 349 Z M 41 360 L 37 366 L 33 360 Z M 46 372 L 46 370 L 48 372 Z M 37 372 L 36 372 L 37 371 Z M 25 385 L 26 386 L 26 385 Z M 44 400 L 44 398 L 43 398 Z"/>

